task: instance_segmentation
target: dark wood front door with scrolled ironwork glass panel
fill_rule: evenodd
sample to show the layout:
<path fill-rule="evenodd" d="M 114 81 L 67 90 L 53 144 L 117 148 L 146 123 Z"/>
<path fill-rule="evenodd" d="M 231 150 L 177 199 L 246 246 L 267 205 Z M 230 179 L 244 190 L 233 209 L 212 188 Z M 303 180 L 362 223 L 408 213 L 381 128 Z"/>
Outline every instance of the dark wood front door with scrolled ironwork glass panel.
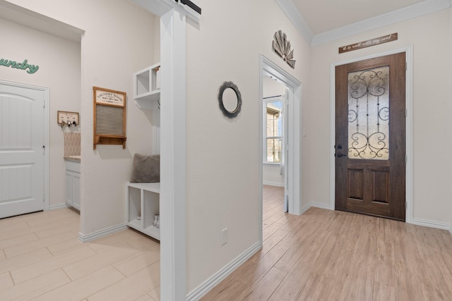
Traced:
<path fill-rule="evenodd" d="M 405 53 L 335 68 L 335 209 L 405 221 Z"/>

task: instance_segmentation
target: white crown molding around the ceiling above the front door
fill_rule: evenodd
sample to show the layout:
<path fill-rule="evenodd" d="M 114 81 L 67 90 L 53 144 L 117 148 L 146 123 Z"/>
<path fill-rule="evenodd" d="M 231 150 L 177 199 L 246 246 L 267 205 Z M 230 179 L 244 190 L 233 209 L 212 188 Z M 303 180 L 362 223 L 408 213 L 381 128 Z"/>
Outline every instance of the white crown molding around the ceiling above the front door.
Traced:
<path fill-rule="evenodd" d="M 418 4 L 413 4 L 412 6 L 391 11 L 390 13 L 385 13 L 381 16 L 376 16 L 374 18 L 369 18 L 367 20 L 340 27 L 335 30 L 314 35 L 292 0 L 275 1 L 284 11 L 287 18 L 292 21 L 302 37 L 304 37 L 304 39 L 306 39 L 311 46 L 331 42 L 335 39 L 343 37 L 349 37 L 360 32 L 374 30 L 379 27 L 391 25 L 411 18 L 417 18 L 436 11 L 442 11 L 443 9 L 451 8 L 452 6 L 452 0 L 426 0 Z"/>

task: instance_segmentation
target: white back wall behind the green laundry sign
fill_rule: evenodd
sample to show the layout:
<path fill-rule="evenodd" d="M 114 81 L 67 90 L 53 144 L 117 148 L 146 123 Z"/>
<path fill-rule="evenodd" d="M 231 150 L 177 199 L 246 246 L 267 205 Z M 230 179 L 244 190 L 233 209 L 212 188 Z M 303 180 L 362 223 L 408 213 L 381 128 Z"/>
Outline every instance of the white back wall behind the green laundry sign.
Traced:
<path fill-rule="evenodd" d="M 40 66 L 29 74 L 0 66 L 0 78 L 49 88 L 49 206 L 65 204 L 64 129 L 57 124 L 57 111 L 80 112 L 80 43 L 34 30 L 0 18 L 0 59 Z M 83 124 L 71 131 L 80 131 Z M 85 130 L 89 128 L 86 127 Z"/>

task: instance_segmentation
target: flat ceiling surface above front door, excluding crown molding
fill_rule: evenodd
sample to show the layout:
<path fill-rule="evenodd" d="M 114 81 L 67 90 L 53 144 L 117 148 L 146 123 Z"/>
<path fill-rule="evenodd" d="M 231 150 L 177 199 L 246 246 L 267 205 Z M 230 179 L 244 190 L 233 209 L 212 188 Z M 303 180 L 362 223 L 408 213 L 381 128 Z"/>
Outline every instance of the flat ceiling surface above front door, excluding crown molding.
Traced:
<path fill-rule="evenodd" d="M 314 35 L 425 0 L 292 0 Z"/>

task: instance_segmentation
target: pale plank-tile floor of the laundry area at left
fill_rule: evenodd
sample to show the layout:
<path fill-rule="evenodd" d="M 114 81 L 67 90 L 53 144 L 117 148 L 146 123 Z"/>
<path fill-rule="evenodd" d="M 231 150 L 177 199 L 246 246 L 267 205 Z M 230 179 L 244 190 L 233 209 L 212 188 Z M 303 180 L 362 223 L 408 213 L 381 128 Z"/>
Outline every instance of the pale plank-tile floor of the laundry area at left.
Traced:
<path fill-rule="evenodd" d="M 57 209 L 0 219 L 0 300 L 160 300 L 160 244 L 124 230 L 82 243 Z"/>

